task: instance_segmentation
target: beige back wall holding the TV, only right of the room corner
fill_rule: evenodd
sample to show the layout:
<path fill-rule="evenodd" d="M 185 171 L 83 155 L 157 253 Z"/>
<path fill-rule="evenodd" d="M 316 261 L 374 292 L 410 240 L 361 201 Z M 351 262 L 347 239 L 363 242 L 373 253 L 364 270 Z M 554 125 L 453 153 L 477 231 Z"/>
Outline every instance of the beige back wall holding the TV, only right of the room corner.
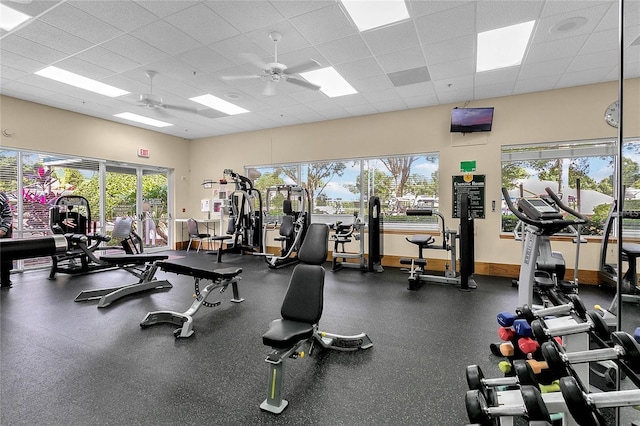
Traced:
<path fill-rule="evenodd" d="M 491 201 L 500 205 L 500 149 L 502 145 L 616 137 L 616 129 L 603 119 L 605 108 L 617 99 L 617 82 L 581 86 L 477 101 L 469 106 L 494 106 L 490 133 L 452 134 L 450 111 L 456 105 L 441 105 L 407 111 L 256 132 L 193 140 L 191 145 L 192 194 L 199 182 L 218 179 L 222 170 L 242 172 L 246 165 L 330 160 L 438 152 L 440 154 L 440 208 L 451 217 L 451 176 L 459 174 L 460 161 L 476 160 L 476 173 L 486 175 L 486 219 L 476 221 L 476 261 L 520 263 L 520 243 L 500 239 L 500 210 L 491 212 Z M 625 136 L 639 136 L 640 80 L 625 87 Z M 200 196 L 192 197 L 190 208 Z M 447 220 L 457 228 L 457 222 Z M 553 243 L 565 255 L 567 266 L 575 263 L 575 246 Z M 581 248 L 580 269 L 597 270 L 599 245 Z M 385 254 L 415 255 L 404 235 L 385 235 Z M 436 257 L 436 252 L 429 256 Z M 446 256 L 442 253 L 441 257 Z"/>

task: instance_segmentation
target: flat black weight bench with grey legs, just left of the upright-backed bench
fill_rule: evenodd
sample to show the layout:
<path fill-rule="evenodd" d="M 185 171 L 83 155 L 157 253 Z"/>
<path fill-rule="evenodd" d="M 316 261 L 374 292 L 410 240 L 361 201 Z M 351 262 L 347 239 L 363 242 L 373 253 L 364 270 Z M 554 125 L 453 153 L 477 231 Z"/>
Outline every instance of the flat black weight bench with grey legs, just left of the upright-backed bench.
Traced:
<path fill-rule="evenodd" d="M 146 328 L 154 324 L 169 323 L 180 326 L 180 328 L 174 330 L 173 335 L 176 339 L 181 337 L 190 337 L 193 331 L 193 315 L 200 309 L 201 306 L 213 308 L 219 306 L 222 302 L 207 302 L 207 298 L 213 290 L 220 288 L 220 293 L 224 292 L 229 284 L 233 289 L 234 303 L 240 303 L 244 301 L 238 294 L 238 281 L 240 281 L 240 273 L 242 268 L 221 268 L 221 269 L 203 269 L 194 266 L 182 265 L 173 262 L 156 262 L 156 266 L 165 272 L 173 272 L 178 275 L 189 275 L 194 278 L 194 286 L 196 299 L 191 304 L 191 307 L 183 313 L 174 311 L 155 311 L 149 312 L 147 316 L 140 323 L 140 327 Z M 200 290 L 200 280 L 209 280 L 211 284 L 208 284 L 205 288 Z"/>

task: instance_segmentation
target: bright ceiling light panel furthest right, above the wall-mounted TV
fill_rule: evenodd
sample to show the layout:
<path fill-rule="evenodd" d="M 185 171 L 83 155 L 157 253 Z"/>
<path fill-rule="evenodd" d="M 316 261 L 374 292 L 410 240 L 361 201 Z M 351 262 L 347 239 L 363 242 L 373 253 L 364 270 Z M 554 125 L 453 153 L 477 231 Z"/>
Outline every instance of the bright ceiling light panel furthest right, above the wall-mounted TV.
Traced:
<path fill-rule="evenodd" d="M 535 22 L 478 33 L 476 72 L 520 65 Z"/>

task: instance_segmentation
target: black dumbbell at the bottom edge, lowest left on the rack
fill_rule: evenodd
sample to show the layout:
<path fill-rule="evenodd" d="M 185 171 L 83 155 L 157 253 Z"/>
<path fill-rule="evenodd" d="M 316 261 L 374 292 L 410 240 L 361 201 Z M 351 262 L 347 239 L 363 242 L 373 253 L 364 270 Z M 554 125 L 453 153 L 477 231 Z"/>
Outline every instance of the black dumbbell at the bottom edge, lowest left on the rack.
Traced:
<path fill-rule="evenodd" d="M 542 394 L 535 386 L 524 385 L 520 388 L 523 405 L 489 406 L 479 390 L 467 391 L 465 405 L 471 423 L 480 426 L 492 426 L 498 417 L 524 416 L 531 421 L 541 420 L 551 423 L 549 411 L 542 399 Z"/>

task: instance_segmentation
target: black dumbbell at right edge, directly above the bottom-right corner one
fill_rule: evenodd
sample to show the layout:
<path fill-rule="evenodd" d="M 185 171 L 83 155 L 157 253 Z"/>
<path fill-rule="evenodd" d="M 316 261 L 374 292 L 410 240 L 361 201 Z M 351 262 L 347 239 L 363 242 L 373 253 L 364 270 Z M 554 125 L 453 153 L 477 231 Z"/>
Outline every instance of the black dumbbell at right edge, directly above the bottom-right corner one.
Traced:
<path fill-rule="evenodd" d="M 549 341 L 542 344 L 542 355 L 558 378 L 571 375 L 568 364 L 605 360 L 624 360 L 634 373 L 640 373 L 640 346 L 631 335 L 615 331 L 611 333 L 611 340 L 614 343 L 611 348 L 566 353 L 561 353 L 556 344 Z"/>

